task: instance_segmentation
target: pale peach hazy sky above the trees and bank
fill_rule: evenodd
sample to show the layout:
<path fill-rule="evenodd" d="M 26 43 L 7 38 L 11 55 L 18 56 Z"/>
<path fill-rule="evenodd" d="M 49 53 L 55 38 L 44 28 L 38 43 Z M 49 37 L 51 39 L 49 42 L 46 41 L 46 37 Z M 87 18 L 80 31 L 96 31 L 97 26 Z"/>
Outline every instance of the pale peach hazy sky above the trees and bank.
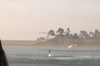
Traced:
<path fill-rule="evenodd" d="M 100 31 L 100 0 L 0 0 L 2 40 L 36 40 L 60 27 Z"/>

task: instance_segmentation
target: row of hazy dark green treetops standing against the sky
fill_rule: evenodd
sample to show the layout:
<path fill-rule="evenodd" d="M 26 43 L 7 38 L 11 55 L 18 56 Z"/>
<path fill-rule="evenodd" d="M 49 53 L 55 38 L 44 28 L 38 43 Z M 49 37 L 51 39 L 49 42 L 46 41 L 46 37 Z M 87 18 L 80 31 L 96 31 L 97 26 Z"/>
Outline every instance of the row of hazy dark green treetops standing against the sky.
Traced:
<path fill-rule="evenodd" d="M 57 34 L 56 34 L 57 33 Z M 84 30 L 81 30 L 80 33 L 74 33 L 72 34 L 70 31 L 70 28 L 67 28 L 65 31 L 63 28 L 59 28 L 56 32 L 54 30 L 50 30 L 48 32 L 49 35 L 51 36 L 56 36 L 58 39 L 91 39 L 91 40 L 96 40 L 100 39 L 100 31 L 98 29 L 95 29 L 94 32 L 90 31 L 87 33 Z"/>

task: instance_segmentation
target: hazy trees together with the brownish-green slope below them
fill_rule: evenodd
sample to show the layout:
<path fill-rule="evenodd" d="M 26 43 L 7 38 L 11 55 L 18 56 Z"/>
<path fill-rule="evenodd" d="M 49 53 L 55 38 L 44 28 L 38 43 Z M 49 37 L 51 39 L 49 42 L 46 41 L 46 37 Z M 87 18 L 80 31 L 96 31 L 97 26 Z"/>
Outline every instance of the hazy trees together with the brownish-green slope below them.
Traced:
<path fill-rule="evenodd" d="M 77 44 L 80 47 L 100 47 L 100 31 L 97 29 L 94 32 L 90 31 L 87 33 L 86 31 L 81 30 L 79 34 L 72 34 L 70 28 L 67 28 L 66 31 L 64 31 L 63 28 L 58 28 L 57 31 L 50 30 L 48 34 L 49 40 L 46 40 L 46 42 L 39 42 L 38 44 L 58 47 L 68 46 L 70 44 Z M 53 39 L 50 40 L 52 37 Z"/>

